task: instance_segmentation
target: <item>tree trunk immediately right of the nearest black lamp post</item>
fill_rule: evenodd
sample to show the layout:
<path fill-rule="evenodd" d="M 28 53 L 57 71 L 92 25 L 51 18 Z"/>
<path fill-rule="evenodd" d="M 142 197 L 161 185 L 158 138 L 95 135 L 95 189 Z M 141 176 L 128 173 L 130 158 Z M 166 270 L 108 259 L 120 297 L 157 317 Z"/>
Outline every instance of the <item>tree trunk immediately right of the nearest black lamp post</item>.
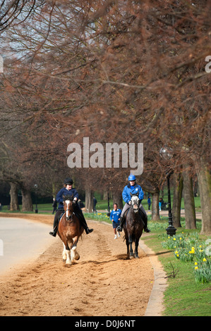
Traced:
<path fill-rule="evenodd" d="M 174 196 L 172 206 L 172 219 L 174 227 L 181 227 L 181 196 L 183 191 L 183 177 L 181 173 L 174 174 Z"/>

